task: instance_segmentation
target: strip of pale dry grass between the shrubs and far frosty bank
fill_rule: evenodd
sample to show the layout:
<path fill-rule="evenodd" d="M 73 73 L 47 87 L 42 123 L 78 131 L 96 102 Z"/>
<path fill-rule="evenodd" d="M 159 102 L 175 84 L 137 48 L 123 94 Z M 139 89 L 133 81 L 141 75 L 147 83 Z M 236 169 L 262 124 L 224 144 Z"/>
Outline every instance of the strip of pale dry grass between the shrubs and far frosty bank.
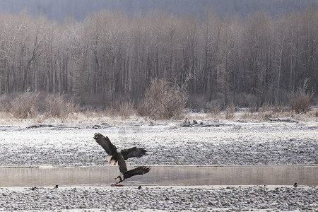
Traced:
<path fill-rule="evenodd" d="M 258 121 L 258 122 L 268 122 L 269 118 L 266 114 L 271 114 L 271 118 L 280 118 L 280 117 L 289 117 L 291 119 L 295 119 L 301 122 L 318 122 L 318 108 L 313 108 L 306 114 L 297 114 L 296 112 L 235 112 L 235 119 L 247 120 L 247 121 Z M 189 121 L 192 120 L 204 120 L 204 119 L 217 119 L 222 120 L 225 118 L 225 111 L 220 112 L 218 116 L 215 118 L 211 113 L 187 113 L 182 114 L 182 119 L 175 119 L 173 122 L 184 122 L 184 117 L 188 117 Z M 110 115 L 109 112 L 105 111 L 93 111 L 89 110 L 86 112 L 74 112 L 71 116 L 67 117 L 64 120 L 64 123 L 70 124 L 116 124 L 116 125 L 125 125 L 131 123 L 153 123 L 152 119 L 148 119 L 148 117 L 140 117 L 140 116 L 130 116 L 129 118 L 122 119 L 121 117 L 114 117 Z M 163 121 L 160 121 L 163 122 Z M 171 122 L 167 120 L 166 122 Z M 28 119 L 19 119 L 13 117 L 10 112 L 0 112 L 0 124 L 8 124 L 8 125 L 30 125 L 35 123 L 61 123 L 61 119 L 45 117 L 43 114 L 37 114 L 36 117 L 28 118 Z"/>

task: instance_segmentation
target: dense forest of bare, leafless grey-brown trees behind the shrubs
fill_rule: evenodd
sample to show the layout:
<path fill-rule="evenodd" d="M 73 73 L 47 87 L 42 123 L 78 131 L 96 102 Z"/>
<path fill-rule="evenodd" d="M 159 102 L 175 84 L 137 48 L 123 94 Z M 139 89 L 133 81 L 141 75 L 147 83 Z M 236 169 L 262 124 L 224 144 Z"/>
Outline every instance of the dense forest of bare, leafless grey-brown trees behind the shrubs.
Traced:
<path fill-rule="evenodd" d="M 318 8 L 220 18 L 102 10 L 63 23 L 0 15 L 0 93 L 65 93 L 82 105 L 138 103 L 153 78 L 187 84 L 189 106 L 285 103 L 318 93 Z"/>

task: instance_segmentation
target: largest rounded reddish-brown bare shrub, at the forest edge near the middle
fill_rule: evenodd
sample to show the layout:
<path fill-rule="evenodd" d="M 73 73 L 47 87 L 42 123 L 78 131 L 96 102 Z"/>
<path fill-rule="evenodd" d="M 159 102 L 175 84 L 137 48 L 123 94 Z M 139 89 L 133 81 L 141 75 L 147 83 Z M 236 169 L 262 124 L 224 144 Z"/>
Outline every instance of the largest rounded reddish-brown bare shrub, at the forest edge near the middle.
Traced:
<path fill-rule="evenodd" d="M 155 78 L 139 103 L 138 113 L 151 119 L 180 118 L 187 98 L 185 86 L 180 88 L 165 79 Z"/>

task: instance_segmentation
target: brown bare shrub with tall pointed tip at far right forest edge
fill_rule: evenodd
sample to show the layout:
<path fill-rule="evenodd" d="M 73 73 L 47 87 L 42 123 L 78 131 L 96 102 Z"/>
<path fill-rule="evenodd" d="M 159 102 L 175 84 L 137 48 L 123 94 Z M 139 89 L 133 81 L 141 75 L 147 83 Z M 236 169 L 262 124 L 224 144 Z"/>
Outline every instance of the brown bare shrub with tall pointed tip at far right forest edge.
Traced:
<path fill-rule="evenodd" d="M 306 93 L 307 82 L 306 79 L 304 85 L 301 88 L 298 88 L 290 98 L 290 110 L 293 110 L 298 114 L 310 111 L 310 99 L 312 98 L 312 95 Z"/>

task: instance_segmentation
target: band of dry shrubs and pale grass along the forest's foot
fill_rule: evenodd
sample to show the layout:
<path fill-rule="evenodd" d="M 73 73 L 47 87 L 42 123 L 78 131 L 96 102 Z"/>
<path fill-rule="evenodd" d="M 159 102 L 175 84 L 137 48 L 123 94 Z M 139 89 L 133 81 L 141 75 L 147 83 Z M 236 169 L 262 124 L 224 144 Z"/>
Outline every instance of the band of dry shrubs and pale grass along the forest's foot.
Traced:
<path fill-rule="evenodd" d="M 159 87 L 158 87 L 159 86 Z M 102 124 L 108 122 L 118 124 L 120 120 L 124 122 L 148 122 L 149 120 L 168 120 L 174 117 L 175 120 L 183 120 L 184 117 L 192 119 L 248 119 L 258 121 L 268 121 L 271 118 L 289 117 L 300 121 L 318 122 L 318 108 L 312 108 L 307 112 L 299 113 L 295 110 L 288 110 L 283 105 L 264 104 L 262 107 L 244 112 L 235 112 L 234 105 L 226 107 L 221 111 L 218 105 L 210 107 L 205 113 L 183 112 L 186 94 L 184 90 L 176 86 L 171 86 L 165 81 L 156 81 L 153 88 L 148 91 L 148 99 L 139 105 L 139 110 L 147 110 L 147 117 L 137 116 L 137 112 L 131 102 L 115 102 L 114 107 L 107 110 L 86 110 L 79 112 L 72 100 L 66 100 L 65 95 L 39 95 L 29 91 L 16 95 L 0 95 L 0 124 L 4 123 L 95 123 Z M 45 98 L 43 98 L 43 96 Z M 39 107 L 38 105 L 41 105 Z M 145 106 L 145 107 L 141 107 Z M 41 108 L 41 109 L 39 109 Z M 144 115 L 144 114 L 143 114 Z"/>

